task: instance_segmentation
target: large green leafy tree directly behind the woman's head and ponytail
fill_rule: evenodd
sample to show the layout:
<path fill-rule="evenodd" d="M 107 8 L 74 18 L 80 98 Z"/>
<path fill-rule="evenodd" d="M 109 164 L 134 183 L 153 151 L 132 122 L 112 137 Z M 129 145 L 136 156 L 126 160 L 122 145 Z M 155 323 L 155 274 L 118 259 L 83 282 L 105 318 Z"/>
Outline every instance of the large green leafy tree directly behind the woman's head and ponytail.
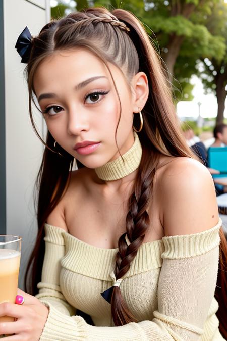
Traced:
<path fill-rule="evenodd" d="M 205 58 L 217 61 L 225 53 L 224 38 L 220 30 L 209 30 L 208 18 L 215 4 L 223 0 L 94 0 L 78 1 L 79 10 L 89 6 L 124 8 L 135 13 L 145 25 L 154 47 L 161 55 L 167 76 L 173 83 L 176 102 L 192 100 L 192 74 L 200 76 L 198 61 Z M 210 21 L 211 22 L 211 21 Z"/>

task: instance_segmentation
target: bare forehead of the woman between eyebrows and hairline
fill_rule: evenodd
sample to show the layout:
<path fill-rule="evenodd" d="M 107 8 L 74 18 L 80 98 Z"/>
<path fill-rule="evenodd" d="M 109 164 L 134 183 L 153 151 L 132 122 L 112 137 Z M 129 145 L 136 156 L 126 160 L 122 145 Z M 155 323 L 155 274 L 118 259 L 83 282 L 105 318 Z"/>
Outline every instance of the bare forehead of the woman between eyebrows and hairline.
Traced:
<path fill-rule="evenodd" d="M 116 72 L 114 66 L 109 65 L 111 72 Z M 116 68 L 117 69 L 117 68 Z M 46 57 L 37 67 L 33 84 L 35 92 L 47 85 L 56 87 L 57 84 L 70 80 L 84 80 L 88 77 L 102 75 L 109 77 L 105 64 L 89 51 L 77 49 L 69 51 L 58 51 Z"/>

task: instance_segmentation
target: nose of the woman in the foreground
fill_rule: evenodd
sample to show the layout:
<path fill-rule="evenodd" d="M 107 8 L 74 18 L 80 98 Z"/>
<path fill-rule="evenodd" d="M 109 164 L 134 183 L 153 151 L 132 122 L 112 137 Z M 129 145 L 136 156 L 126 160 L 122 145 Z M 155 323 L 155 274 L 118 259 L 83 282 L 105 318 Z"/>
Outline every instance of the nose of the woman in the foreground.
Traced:
<path fill-rule="evenodd" d="M 68 115 L 68 134 L 79 135 L 81 131 L 86 130 L 89 130 L 87 115 L 79 110 L 70 110 Z"/>

